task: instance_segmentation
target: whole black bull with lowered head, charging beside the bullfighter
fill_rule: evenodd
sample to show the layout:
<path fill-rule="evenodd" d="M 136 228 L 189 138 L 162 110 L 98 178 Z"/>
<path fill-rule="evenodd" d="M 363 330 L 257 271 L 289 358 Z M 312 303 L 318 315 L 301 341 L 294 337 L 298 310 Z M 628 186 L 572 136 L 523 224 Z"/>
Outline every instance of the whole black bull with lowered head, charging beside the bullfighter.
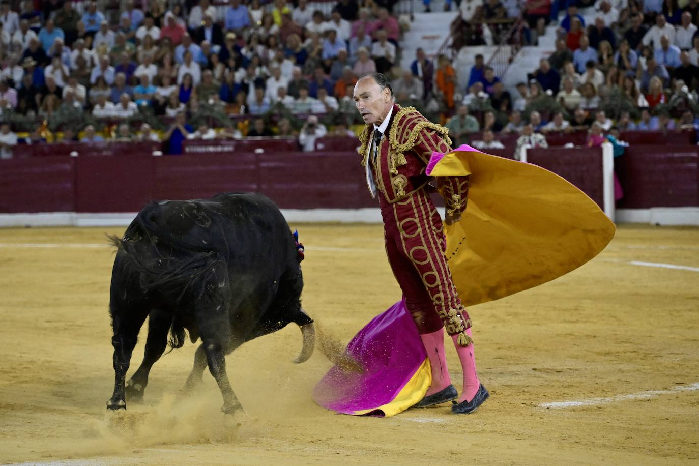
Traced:
<path fill-rule="evenodd" d="M 240 402 L 226 375 L 225 355 L 244 342 L 294 322 L 310 358 L 312 319 L 301 309 L 303 277 L 294 238 L 278 207 L 259 194 L 163 201 L 143 208 L 117 246 L 110 291 L 114 336 L 114 394 L 108 409 L 140 401 L 152 365 L 169 343 L 182 347 L 185 329 L 201 345 L 185 389 L 201 382 L 208 365 L 226 413 Z M 145 318 L 143 363 L 125 383 L 131 352 Z"/>

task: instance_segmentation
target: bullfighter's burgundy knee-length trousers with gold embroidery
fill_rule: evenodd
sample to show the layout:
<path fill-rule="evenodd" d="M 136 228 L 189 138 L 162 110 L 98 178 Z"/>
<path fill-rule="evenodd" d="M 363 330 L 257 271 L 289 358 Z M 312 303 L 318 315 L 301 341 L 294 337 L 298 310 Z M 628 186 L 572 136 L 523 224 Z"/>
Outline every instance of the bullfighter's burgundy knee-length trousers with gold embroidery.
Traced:
<path fill-rule="evenodd" d="M 427 192 L 420 189 L 392 204 L 379 197 L 386 254 L 419 333 L 445 326 L 456 335 L 469 328 L 445 257 L 442 219 Z"/>

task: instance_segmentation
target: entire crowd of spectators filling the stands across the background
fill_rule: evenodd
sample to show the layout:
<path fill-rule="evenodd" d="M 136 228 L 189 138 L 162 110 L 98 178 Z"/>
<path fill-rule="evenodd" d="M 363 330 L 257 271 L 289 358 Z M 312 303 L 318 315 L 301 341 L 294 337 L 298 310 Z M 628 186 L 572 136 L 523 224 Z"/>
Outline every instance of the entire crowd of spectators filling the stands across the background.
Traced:
<path fill-rule="evenodd" d="M 456 48 L 499 40 L 517 17 L 527 43 L 555 25 L 556 50 L 538 69 L 510 68 L 522 74 L 512 92 L 481 55 L 465 88 L 443 55 L 418 49 L 399 68 L 395 1 L 339 0 L 327 13 L 308 0 L 106 3 L 0 1 L 0 156 L 44 140 L 162 140 L 178 154 L 192 138 L 294 136 L 313 150 L 361 122 L 352 88 L 373 71 L 389 75 L 399 103 L 445 123 L 454 143 L 483 149 L 499 148 L 500 132 L 545 145 L 546 133 L 595 123 L 699 126 L 699 0 L 446 2 L 459 8 Z M 593 8 L 593 24 L 578 6 Z"/>

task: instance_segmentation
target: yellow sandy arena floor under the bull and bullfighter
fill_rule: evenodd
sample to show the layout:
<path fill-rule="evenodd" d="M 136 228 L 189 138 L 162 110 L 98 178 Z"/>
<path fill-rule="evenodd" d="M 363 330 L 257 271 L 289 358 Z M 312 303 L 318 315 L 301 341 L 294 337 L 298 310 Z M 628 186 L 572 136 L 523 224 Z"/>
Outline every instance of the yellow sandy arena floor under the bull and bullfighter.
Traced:
<path fill-rule="evenodd" d="M 298 227 L 307 247 L 304 307 L 347 342 L 400 297 L 381 227 Z M 491 391 L 473 415 L 454 416 L 447 405 L 386 419 L 328 412 L 310 391 L 330 363 L 317 351 L 308 363 L 291 364 L 301 335 L 288 326 L 229 356 L 247 411 L 234 422 L 219 412 L 208 373 L 198 397 L 178 398 L 192 365 L 189 343 L 155 365 L 144 405 L 106 415 L 114 372 L 107 312 L 113 252 L 105 233 L 122 231 L 0 229 L 0 462 L 699 462 L 697 228 L 622 226 L 605 252 L 575 272 L 471 308 L 477 365 Z M 451 349 L 448 358 L 460 385 Z M 568 403 L 542 407 L 554 402 Z"/>

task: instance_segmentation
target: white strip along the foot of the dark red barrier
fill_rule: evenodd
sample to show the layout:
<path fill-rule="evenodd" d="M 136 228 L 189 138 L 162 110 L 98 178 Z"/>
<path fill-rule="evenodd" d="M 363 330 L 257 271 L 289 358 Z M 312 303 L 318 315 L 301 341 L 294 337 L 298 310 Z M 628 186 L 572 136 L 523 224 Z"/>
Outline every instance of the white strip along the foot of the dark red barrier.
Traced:
<path fill-rule="evenodd" d="M 366 209 L 282 209 L 289 223 L 380 224 L 381 212 Z M 47 212 L 41 214 L 0 214 L 0 227 L 12 226 L 128 226 L 136 217 L 130 213 L 76 214 Z M 699 226 L 699 207 L 654 207 L 651 209 L 617 209 L 617 223 L 663 226 Z"/>

